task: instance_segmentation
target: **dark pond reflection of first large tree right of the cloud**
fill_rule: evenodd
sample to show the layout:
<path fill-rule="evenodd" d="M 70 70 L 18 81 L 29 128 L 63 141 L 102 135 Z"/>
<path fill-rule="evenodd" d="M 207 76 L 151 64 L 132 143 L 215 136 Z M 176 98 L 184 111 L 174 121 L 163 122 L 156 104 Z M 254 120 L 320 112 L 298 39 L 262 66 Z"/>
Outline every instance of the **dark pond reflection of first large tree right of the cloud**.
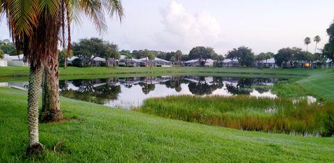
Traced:
<path fill-rule="evenodd" d="M 241 78 L 238 81 L 237 86 L 233 86 L 233 84 L 226 84 L 226 89 L 229 93 L 234 95 L 249 95 L 252 91 L 252 79 L 249 78 Z"/>

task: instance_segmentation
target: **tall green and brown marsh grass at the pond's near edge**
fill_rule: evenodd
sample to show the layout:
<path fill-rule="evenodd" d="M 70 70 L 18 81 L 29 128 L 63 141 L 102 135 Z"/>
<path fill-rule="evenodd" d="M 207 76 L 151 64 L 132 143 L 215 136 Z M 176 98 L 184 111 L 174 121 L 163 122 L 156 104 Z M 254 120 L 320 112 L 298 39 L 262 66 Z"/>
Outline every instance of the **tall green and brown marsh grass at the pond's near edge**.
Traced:
<path fill-rule="evenodd" d="M 331 136 L 334 104 L 308 104 L 306 99 L 194 95 L 145 100 L 139 109 L 147 114 L 240 130 Z"/>

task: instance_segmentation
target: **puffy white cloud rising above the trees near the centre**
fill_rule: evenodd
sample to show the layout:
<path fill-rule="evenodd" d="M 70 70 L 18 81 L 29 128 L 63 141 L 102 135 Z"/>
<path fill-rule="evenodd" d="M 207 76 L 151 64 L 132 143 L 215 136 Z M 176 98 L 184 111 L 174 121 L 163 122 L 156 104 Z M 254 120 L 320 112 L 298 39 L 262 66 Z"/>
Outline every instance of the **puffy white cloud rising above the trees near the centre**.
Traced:
<path fill-rule="evenodd" d="M 157 43 L 168 49 L 189 52 L 195 46 L 212 46 L 222 42 L 221 26 L 207 11 L 191 14 L 181 3 L 171 1 L 161 9 L 163 31 L 156 34 Z"/>

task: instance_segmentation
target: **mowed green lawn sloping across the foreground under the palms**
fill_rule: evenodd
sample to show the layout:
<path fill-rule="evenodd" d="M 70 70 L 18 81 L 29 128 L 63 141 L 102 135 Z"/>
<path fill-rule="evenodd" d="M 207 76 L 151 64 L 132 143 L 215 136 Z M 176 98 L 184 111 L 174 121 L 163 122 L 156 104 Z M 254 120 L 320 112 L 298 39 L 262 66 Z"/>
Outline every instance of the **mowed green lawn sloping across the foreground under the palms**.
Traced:
<path fill-rule="evenodd" d="M 0 88 L 1 162 L 29 161 L 26 95 Z M 67 98 L 61 108 L 74 120 L 40 124 L 46 153 L 37 162 L 334 162 L 333 137 L 232 130 Z"/>

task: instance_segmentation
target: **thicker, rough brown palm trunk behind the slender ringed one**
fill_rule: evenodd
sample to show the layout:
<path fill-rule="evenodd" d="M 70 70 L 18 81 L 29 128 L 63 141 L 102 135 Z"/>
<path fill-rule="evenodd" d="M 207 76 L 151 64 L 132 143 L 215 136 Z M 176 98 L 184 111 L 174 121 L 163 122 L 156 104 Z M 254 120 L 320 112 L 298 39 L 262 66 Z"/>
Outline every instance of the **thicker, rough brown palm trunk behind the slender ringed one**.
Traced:
<path fill-rule="evenodd" d="M 45 79 L 43 84 L 43 122 L 58 122 L 63 120 L 63 111 L 59 102 L 59 72 L 58 54 L 49 55 L 45 65 Z"/>

